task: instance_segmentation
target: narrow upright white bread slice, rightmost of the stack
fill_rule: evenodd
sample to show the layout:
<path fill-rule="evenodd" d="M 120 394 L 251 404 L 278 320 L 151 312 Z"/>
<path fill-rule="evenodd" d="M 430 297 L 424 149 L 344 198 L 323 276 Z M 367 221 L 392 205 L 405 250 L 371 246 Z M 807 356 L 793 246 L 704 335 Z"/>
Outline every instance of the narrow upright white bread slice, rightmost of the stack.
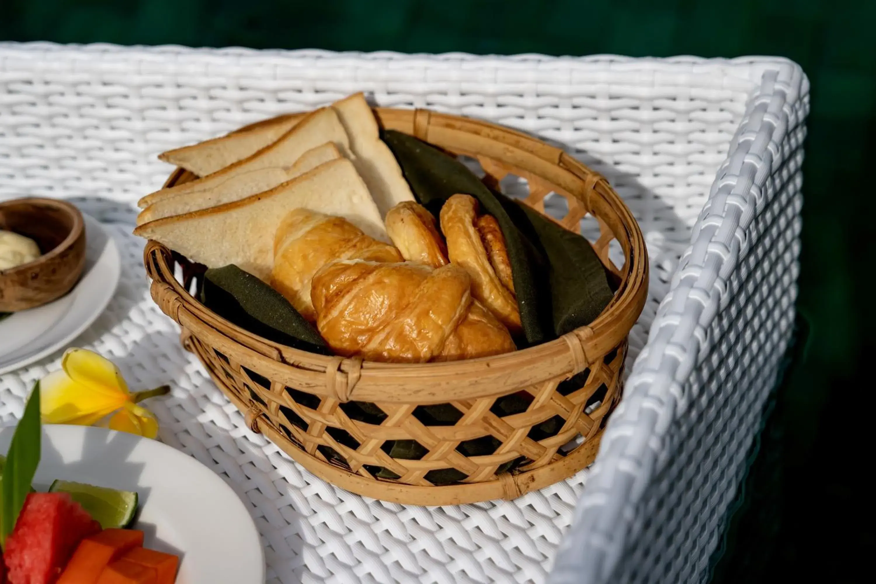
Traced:
<path fill-rule="evenodd" d="M 332 104 L 332 108 L 341 118 L 344 130 L 347 130 L 350 149 L 356 156 L 353 164 L 368 185 L 380 215 L 385 217 L 391 208 L 402 201 L 413 201 L 411 187 L 407 185 L 389 146 L 380 139 L 377 120 L 364 95 L 350 95 Z"/>

